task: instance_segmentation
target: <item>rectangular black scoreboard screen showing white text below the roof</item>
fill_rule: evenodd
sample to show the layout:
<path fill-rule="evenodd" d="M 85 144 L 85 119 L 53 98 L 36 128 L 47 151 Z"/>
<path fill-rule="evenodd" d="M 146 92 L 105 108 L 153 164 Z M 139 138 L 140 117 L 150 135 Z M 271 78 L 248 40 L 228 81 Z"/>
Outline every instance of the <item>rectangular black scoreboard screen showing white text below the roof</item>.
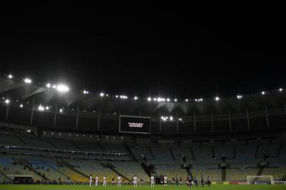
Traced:
<path fill-rule="evenodd" d="M 132 115 L 120 115 L 119 132 L 150 134 L 151 118 Z"/>

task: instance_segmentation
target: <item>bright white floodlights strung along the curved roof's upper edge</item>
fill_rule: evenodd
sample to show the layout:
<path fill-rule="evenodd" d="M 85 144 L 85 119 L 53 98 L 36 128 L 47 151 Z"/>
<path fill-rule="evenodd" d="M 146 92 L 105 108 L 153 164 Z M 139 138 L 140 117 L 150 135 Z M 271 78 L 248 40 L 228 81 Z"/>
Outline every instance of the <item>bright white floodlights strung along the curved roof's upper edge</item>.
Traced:
<path fill-rule="evenodd" d="M 8 75 L 8 78 L 9 79 L 13 79 L 13 75 Z M 29 78 L 25 78 L 24 79 L 24 82 L 25 83 L 28 83 L 28 84 L 30 84 L 30 83 L 32 83 L 32 80 L 30 80 Z M 66 86 L 65 84 L 58 84 L 58 85 L 52 85 L 52 84 L 46 84 L 46 87 L 47 88 L 51 88 L 51 89 L 57 89 L 58 91 L 60 91 L 60 92 L 67 92 L 67 91 L 69 91 L 69 87 L 68 86 Z M 282 88 L 280 88 L 280 89 L 278 89 L 278 91 L 283 91 L 283 89 Z M 87 90 L 84 90 L 84 91 L 82 91 L 82 94 L 91 94 L 91 92 L 90 91 L 87 91 Z M 262 95 L 264 95 L 264 94 L 266 94 L 266 92 L 265 91 L 261 91 L 261 94 Z M 103 97 L 103 96 L 111 96 L 110 94 L 108 95 L 108 94 L 104 94 L 103 92 L 101 92 L 100 94 L 99 94 L 101 97 Z M 116 98 L 120 98 L 120 99 L 128 99 L 128 96 L 125 96 L 125 95 L 121 95 L 121 96 L 118 96 L 118 95 L 116 95 Z M 137 100 L 137 99 L 139 99 L 137 96 L 134 96 L 134 98 L 133 99 L 135 99 L 135 100 Z M 237 95 L 237 99 L 242 99 L 242 95 Z M 167 102 L 169 102 L 170 101 L 170 99 L 165 99 L 165 98 L 161 98 L 161 97 L 158 97 L 158 98 L 151 98 L 151 97 L 148 97 L 147 98 L 147 101 L 158 101 L 158 102 L 161 102 L 161 101 L 167 101 Z M 218 97 L 218 96 L 216 96 L 215 98 L 214 98 L 214 100 L 216 100 L 216 101 L 219 101 L 220 100 L 220 97 Z M 178 101 L 178 99 L 173 99 L 173 101 Z M 185 99 L 185 101 L 189 101 L 189 99 Z M 197 101 L 197 102 L 200 102 L 200 101 L 203 101 L 203 99 L 194 99 L 194 101 Z"/>

